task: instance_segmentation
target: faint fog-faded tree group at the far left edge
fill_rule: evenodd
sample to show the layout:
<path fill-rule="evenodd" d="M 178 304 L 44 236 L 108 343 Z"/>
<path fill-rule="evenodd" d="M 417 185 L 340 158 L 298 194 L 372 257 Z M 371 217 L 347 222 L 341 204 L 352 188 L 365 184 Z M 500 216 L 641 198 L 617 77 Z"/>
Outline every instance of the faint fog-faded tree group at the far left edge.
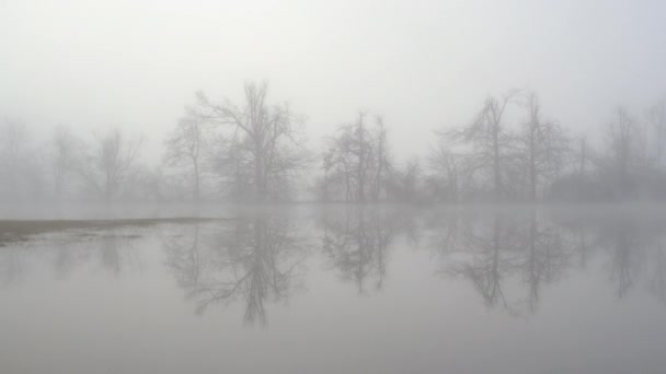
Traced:
<path fill-rule="evenodd" d="M 83 140 L 58 126 L 45 145 L 25 125 L 0 124 L 0 200 L 7 202 L 103 200 L 146 197 L 141 182 L 141 137 L 117 128 Z"/>

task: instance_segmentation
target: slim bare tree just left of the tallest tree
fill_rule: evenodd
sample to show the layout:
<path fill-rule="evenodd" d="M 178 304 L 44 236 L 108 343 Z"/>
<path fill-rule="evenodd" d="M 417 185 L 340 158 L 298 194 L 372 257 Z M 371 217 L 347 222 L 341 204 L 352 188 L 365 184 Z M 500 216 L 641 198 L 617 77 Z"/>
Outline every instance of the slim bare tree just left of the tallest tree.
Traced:
<path fill-rule="evenodd" d="M 203 164 L 207 155 L 209 129 L 204 118 L 188 108 L 166 139 L 164 161 L 169 166 L 185 167 L 192 173 L 193 200 L 200 200 Z"/>

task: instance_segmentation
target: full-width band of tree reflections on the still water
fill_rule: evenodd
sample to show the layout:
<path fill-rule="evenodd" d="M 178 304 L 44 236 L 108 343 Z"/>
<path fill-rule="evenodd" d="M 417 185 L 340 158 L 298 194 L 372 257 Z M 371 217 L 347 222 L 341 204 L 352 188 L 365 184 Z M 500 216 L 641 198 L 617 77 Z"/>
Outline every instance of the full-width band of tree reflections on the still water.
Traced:
<path fill-rule="evenodd" d="M 282 213 L 169 226 L 161 236 L 165 265 L 197 313 L 240 302 L 246 323 L 266 323 L 267 303 L 284 302 L 303 285 L 313 254 L 342 282 L 371 294 L 389 287 L 392 255 L 413 249 L 437 255 L 430 264 L 444 281 L 461 279 L 487 308 L 515 316 L 536 313 L 546 289 L 579 272 L 604 277 L 618 299 L 639 289 L 666 302 L 666 224 L 659 217 L 345 207 L 318 210 L 312 231 L 303 229 L 307 220 Z M 314 235 L 319 252 L 308 247 L 306 234 Z M 19 287 L 44 268 L 57 279 L 83 267 L 124 277 L 141 268 L 137 237 L 133 230 L 99 230 L 7 244 L 0 285 Z"/>

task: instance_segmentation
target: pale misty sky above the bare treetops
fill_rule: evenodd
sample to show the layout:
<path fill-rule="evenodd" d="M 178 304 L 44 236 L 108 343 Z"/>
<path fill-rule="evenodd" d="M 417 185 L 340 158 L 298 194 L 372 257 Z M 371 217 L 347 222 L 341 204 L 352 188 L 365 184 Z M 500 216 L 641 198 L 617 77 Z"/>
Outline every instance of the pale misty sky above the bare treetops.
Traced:
<path fill-rule="evenodd" d="M 510 87 L 594 131 L 618 104 L 666 94 L 666 1 L 0 0 L 0 116 L 39 136 L 142 131 L 157 160 L 202 89 L 240 100 L 267 79 L 308 115 L 313 144 L 357 110 L 381 113 L 399 156 L 469 121 Z"/>

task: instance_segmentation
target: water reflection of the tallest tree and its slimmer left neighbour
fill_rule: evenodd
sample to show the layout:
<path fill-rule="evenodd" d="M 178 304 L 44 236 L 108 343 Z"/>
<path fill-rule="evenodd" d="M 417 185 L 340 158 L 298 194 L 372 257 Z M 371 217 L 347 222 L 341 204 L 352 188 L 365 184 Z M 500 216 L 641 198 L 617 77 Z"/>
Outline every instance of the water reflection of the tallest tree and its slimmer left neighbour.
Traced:
<path fill-rule="evenodd" d="M 195 301 L 197 314 L 211 304 L 242 300 L 248 324 L 265 324 L 266 301 L 286 301 L 298 288 L 307 254 L 303 238 L 285 217 L 195 226 L 188 236 L 171 238 L 165 246 L 168 266 L 187 299 Z"/>

